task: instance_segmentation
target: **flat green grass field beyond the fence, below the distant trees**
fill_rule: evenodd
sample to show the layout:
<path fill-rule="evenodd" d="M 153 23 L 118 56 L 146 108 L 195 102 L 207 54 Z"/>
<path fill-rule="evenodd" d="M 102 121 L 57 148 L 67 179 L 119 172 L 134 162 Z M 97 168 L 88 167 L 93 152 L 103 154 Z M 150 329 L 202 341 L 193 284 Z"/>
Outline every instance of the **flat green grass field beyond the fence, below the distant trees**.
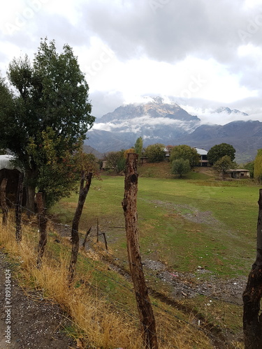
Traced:
<path fill-rule="evenodd" d="M 161 260 L 177 272 L 197 267 L 220 276 L 247 275 L 256 255 L 259 186 L 253 181 L 217 181 L 192 172 L 172 178 L 167 165 L 140 168 L 138 220 L 143 259 Z M 147 174 L 150 172 L 150 176 Z M 171 178 L 156 178 L 157 175 Z M 80 228 L 91 225 L 108 237 L 115 258 L 127 260 L 122 198 L 124 177 L 93 179 Z M 78 195 L 52 210 L 71 224 Z"/>

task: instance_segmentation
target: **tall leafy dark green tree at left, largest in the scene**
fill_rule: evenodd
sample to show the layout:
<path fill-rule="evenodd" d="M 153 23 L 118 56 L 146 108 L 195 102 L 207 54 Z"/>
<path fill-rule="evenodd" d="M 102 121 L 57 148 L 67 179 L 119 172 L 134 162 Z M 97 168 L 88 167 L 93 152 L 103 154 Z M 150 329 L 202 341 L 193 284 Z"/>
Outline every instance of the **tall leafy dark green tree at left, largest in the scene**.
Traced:
<path fill-rule="evenodd" d="M 27 207 L 33 210 L 36 186 L 48 181 L 41 177 L 49 176 L 48 166 L 54 166 L 50 151 L 62 165 L 80 149 L 94 123 L 89 87 L 71 47 L 64 45 L 58 54 L 54 41 L 46 38 L 32 64 L 27 55 L 13 59 L 7 75 L 10 88 L 0 80 L 6 96 L 0 98 L 0 147 L 10 149 L 24 167 Z"/>

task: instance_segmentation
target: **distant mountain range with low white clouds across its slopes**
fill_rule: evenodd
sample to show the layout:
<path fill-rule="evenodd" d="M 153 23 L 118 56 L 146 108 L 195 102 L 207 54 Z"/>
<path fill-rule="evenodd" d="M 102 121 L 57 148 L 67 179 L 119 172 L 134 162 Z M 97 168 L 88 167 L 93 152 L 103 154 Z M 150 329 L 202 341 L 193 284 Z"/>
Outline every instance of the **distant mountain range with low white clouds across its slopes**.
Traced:
<path fill-rule="evenodd" d="M 262 123 L 249 121 L 248 114 L 228 107 L 214 110 L 219 114 L 247 117 L 247 121 L 233 121 L 224 126 L 201 125 L 196 115 L 189 114 L 179 105 L 163 103 L 160 97 L 146 103 L 117 107 L 113 112 L 96 120 L 87 133 L 86 144 L 100 153 L 129 149 L 136 139 L 143 137 L 148 144 L 188 144 L 191 147 L 210 149 L 214 144 L 226 142 L 236 149 L 236 160 L 247 162 L 254 159 L 256 150 L 262 147 Z"/>

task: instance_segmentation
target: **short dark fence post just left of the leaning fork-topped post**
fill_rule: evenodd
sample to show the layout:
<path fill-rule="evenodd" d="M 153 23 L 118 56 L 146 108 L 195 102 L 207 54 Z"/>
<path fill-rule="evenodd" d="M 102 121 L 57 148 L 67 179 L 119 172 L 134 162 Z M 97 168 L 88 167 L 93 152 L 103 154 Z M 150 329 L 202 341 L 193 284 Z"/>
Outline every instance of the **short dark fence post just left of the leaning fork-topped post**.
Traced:
<path fill-rule="evenodd" d="M 38 253 L 37 253 L 37 263 L 36 266 L 38 269 L 41 268 L 43 254 L 45 253 L 45 245 L 48 242 L 48 235 L 46 232 L 46 227 L 48 225 L 48 218 L 45 216 L 45 208 L 43 205 L 43 195 L 42 193 L 36 193 L 36 204 L 38 210 L 38 227 L 40 239 L 38 243 Z"/>

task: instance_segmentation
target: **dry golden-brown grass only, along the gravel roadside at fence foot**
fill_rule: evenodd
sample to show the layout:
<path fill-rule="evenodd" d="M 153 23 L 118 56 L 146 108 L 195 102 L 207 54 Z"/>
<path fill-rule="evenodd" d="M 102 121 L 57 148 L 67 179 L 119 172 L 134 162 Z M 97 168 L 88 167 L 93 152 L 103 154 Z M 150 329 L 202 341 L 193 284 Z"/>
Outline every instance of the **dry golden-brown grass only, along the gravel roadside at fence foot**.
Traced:
<path fill-rule="evenodd" d="M 92 272 L 81 274 L 82 283 L 78 288 L 68 288 L 69 251 L 52 258 L 49 251 L 52 242 L 48 242 L 48 251 L 43 259 L 41 270 L 36 268 L 36 246 L 38 232 L 34 227 L 23 228 L 23 239 L 15 243 L 14 224 L 0 227 L 0 244 L 6 252 L 20 262 L 17 269 L 20 282 L 26 287 L 41 290 L 44 297 L 54 299 L 72 319 L 75 336 L 92 348 L 142 349 L 139 320 L 126 315 L 125 311 L 115 308 L 99 294 L 99 285 L 93 284 Z M 82 252 L 81 252 L 82 253 Z M 89 256 L 92 257 L 92 256 Z M 106 269 L 106 266 L 105 266 Z M 78 272 L 79 273 L 79 272 Z M 94 292 L 94 289 L 98 292 Z M 133 297 L 133 295 L 130 295 Z M 162 305 L 161 305 L 162 306 Z M 136 306 L 134 306 L 136 308 Z M 134 311 L 134 309 L 133 309 Z M 154 309 L 157 320 L 159 348 L 161 349 L 208 349 L 212 348 L 205 334 L 191 325 L 177 320 L 162 309 Z M 194 319 L 187 318 L 188 322 Z M 90 348 L 90 347 L 89 347 Z"/>

